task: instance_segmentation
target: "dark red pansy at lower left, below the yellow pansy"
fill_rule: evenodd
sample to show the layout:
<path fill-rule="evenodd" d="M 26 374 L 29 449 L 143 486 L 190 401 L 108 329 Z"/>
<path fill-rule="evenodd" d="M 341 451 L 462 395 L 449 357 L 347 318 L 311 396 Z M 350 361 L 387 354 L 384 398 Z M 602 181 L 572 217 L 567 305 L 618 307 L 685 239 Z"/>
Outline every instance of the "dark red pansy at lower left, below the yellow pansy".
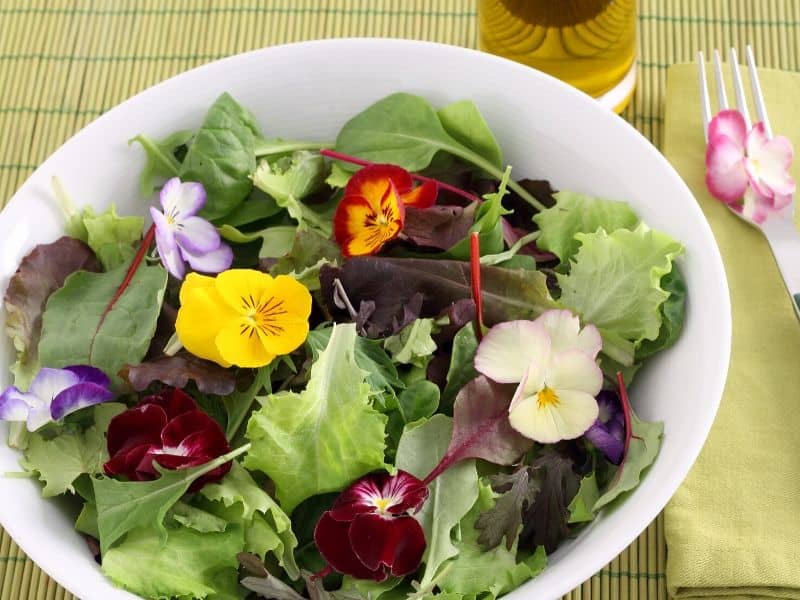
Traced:
<path fill-rule="evenodd" d="M 157 479 L 153 461 L 167 469 L 183 469 L 230 452 L 219 424 L 200 410 L 191 396 L 173 388 L 148 396 L 114 417 L 107 442 L 111 458 L 103 465 L 106 475 L 123 475 L 131 481 Z M 206 473 L 189 491 L 219 481 L 230 468 L 227 462 Z"/>

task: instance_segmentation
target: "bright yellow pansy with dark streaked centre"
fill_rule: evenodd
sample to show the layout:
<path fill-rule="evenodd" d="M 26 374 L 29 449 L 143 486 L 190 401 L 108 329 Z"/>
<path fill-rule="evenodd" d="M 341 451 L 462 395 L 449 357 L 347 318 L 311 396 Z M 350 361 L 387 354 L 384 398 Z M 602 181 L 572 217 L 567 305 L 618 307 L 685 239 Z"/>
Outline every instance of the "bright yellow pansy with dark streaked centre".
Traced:
<path fill-rule="evenodd" d="M 190 273 L 175 322 L 189 352 L 223 366 L 257 368 L 289 354 L 308 337 L 311 294 L 288 275 L 231 269 Z"/>

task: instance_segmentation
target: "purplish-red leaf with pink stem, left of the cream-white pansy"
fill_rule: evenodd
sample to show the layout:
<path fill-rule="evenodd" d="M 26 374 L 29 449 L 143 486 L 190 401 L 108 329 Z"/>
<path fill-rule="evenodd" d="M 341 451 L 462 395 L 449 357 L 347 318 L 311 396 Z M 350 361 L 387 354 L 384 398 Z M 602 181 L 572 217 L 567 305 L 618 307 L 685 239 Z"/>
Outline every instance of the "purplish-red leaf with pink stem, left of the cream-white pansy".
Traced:
<path fill-rule="evenodd" d="M 508 421 L 514 389 L 513 385 L 495 383 L 483 375 L 461 389 L 453 409 L 450 446 L 426 482 L 467 458 L 512 465 L 531 449 L 533 442 L 515 431 Z"/>

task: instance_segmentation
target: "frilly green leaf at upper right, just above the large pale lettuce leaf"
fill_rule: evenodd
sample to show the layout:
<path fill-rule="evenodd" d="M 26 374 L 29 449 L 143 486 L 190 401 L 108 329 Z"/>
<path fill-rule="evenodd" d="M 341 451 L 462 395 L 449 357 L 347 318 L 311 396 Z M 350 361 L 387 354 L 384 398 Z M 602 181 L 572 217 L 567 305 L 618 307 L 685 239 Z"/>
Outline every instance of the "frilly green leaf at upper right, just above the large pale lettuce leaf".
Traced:
<path fill-rule="evenodd" d="M 554 197 L 556 205 L 534 215 L 533 220 L 542 232 L 536 245 L 558 256 L 562 264 L 569 264 L 580 247 L 576 233 L 594 233 L 598 229 L 633 230 L 639 223 L 639 217 L 626 202 L 565 191 Z"/>

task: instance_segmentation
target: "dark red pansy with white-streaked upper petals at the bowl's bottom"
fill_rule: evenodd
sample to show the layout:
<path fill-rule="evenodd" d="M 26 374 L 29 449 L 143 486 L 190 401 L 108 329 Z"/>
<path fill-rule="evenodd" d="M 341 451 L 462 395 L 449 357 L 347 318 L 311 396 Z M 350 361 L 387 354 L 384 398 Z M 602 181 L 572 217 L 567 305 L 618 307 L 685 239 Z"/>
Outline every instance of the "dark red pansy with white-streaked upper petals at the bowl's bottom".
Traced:
<path fill-rule="evenodd" d="M 425 533 L 411 516 L 428 497 L 425 484 L 406 473 L 376 472 L 356 481 L 314 529 L 328 566 L 358 579 L 402 577 L 419 567 Z"/>

